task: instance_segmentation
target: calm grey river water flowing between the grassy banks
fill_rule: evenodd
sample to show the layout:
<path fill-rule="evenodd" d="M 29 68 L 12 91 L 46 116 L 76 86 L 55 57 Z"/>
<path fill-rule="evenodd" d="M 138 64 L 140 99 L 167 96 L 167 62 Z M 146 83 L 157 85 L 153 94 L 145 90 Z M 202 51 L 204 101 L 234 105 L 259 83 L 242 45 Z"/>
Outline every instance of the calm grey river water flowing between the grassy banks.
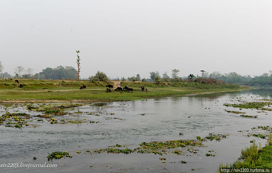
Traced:
<path fill-rule="evenodd" d="M 271 94 L 271 89 L 255 89 L 113 103 L 86 103 L 84 106 L 68 109 L 67 115 L 53 115 L 59 122 L 57 124 L 51 124 L 45 118 L 35 118 L 41 113 L 29 111 L 23 104 L 13 104 L 11 107 L 0 105 L 1 115 L 6 111 L 28 113 L 33 118 L 30 124 L 37 126 L 18 129 L 1 124 L 0 165 L 20 165 L 21 162 L 57 164 L 56 168 L 2 167 L 0 172 L 192 172 L 192 169 L 193 172 L 214 172 L 219 163 L 236 161 L 241 149 L 251 145 L 252 139 L 264 146 L 266 139 L 247 135 L 266 132 L 251 128 L 272 126 L 271 111 L 257 113 L 260 110 L 239 110 L 223 104 L 271 99 Z M 224 109 L 246 112 L 246 115 L 257 115 L 257 118 L 241 117 L 241 114 L 227 113 Z M 76 113 L 79 111 L 82 113 Z M 43 119 L 44 122 L 36 119 Z M 80 120 L 83 123 L 61 123 L 60 120 Z M 179 148 L 182 150 L 180 155 L 170 152 L 162 156 L 153 153 L 126 155 L 107 152 L 91 152 L 91 155 L 86 152 L 116 144 L 134 149 L 141 142 L 196 139 L 197 136 L 204 138 L 212 132 L 227 135 L 227 138 L 220 142 L 207 140 L 202 142 L 203 146 Z M 188 149 L 195 149 L 196 153 L 189 152 Z M 210 150 L 214 157 L 205 156 Z M 48 161 L 48 153 L 54 151 L 67 151 L 73 157 Z M 77 151 L 81 153 L 78 154 Z M 33 160 L 33 157 L 38 159 Z M 166 158 L 166 163 L 160 157 Z M 182 160 L 187 163 L 181 163 Z"/>

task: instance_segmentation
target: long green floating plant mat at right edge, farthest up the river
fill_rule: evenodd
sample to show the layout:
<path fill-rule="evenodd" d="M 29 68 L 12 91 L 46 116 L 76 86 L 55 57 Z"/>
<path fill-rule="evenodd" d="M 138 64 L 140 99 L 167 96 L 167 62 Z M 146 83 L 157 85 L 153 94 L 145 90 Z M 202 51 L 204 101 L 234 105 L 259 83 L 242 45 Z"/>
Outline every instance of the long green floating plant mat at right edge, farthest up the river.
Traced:
<path fill-rule="evenodd" d="M 237 108 L 244 108 L 244 109 L 258 109 L 258 110 L 268 110 L 272 111 L 270 108 L 264 108 L 265 106 L 272 105 L 271 102 L 247 102 L 247 103 L 241 103 L 241 104 L 229 104 L 224 103 L 224 106 L 231 106 L 231 107 L 237 107 Z"/>

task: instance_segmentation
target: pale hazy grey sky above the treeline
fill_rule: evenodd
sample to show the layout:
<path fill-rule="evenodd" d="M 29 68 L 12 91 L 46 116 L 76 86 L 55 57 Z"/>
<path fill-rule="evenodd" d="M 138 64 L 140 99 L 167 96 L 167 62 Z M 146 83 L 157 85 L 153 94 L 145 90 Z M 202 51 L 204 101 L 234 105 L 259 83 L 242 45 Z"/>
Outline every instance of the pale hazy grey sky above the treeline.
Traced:
<path fill-rule="evenodd" d="M 272 70 L 271 0 L 0 1 L 3 72 L 73 66 L 82 78 L 179 69 L 179 76 Z"/>

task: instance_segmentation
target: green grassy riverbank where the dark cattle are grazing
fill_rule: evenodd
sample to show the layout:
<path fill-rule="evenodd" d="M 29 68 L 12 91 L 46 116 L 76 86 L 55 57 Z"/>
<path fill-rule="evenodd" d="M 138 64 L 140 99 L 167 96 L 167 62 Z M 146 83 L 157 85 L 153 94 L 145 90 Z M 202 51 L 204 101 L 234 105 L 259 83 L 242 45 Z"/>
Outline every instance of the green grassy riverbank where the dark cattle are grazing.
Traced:
<path fill-rule="evenodd" d="M 0 101 L 1 102 L 107 102 L 107 101 L 124 101 L 124 100 L 142 100 L 147 98 L 158 98 L 164 96 L 182 96 L 188 94 L 201 94 L 213 92 L 226 92 L 247 89 L 244 86 L 234 84 L 208 85 L 199 83 L 161 83 L 153 82 L 130 82 L 124 83 L 110 81 L 89 82 L 73 80 L 0 80 Z M 20 88 L 20 84 L 23 85 Z M 79 90 L 85 84 L 87 90 Z M 123 93 L 112 90 L 107 93 L 106 85 L 117 84 L 122 87 L 128 86 L 133 88 L 133 93 Z M 148 87 L 148 92 L 141 91 L 141 86 Z"/>

